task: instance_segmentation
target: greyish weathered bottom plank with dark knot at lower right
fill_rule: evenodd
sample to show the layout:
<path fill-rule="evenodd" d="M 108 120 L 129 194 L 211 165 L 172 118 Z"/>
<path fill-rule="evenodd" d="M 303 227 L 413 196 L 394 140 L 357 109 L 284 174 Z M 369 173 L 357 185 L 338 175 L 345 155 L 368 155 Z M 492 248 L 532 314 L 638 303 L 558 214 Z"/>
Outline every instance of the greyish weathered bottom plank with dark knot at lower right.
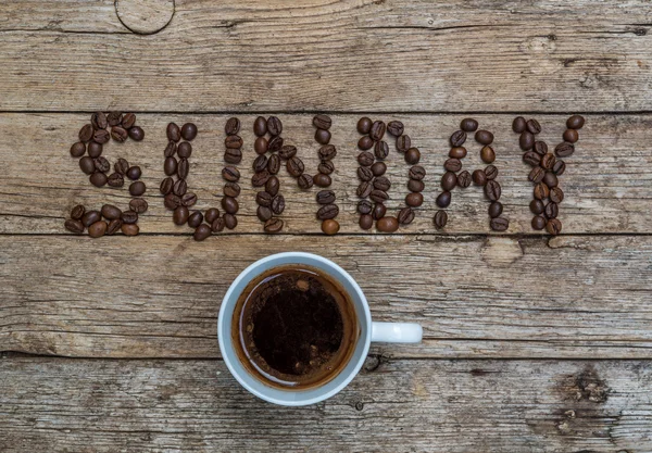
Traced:
<path fill-rule="evenodd" d="M 652 449 L 652 364 L 371 357 L 318 405 L 256 400 L 216 361 L 0 361 L 0 449 L 518 451 Z"/>

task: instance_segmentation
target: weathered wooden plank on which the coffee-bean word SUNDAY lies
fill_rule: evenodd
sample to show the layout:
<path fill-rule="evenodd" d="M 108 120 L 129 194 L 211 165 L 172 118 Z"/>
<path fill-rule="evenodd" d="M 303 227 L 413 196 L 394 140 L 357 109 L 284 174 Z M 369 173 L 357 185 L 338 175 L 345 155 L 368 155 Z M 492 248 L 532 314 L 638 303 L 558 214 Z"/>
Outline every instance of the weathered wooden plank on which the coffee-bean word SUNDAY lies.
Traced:
<path fill-rule="evenodd" d="M 128 193 L 121 190 L 97 189 L 88 183 L 68 154 L 78 128 L 88 121 L 86 114 L 0 114 L 0 232 L 4 234 L 65 234 L 64 217 L 76 203 L 100 207 L 104 202 L 126 207 Z M 314 174 L 317 166 L 317 149 L 313 140 L 311 115 L 280 115 L 285 124 L 284 136 L 296 143 L 306 168 Z M 359 184 L 355 175 L 355 131 L 358 115 L 335 115 L 333 143 L 338 147 L 335 160 L 337 172 L 334 190 L 338 197 L 341 214 L 338 217 L 342 232 L 363 232 L 358 226 L 355 206 Z M 375 115 L 375 117 L 380 117 Z M 459 127 L 462 115 L 383 115 L 386 121 L 400 118 L 415 146 L 422 150 L 422 164 L 426 167 L 425 203 L 416 221 L 404 232 L 437 232 L 432 215 L 437 206 L 435 199 L 440 191 L 439 180 L 443 174 L 443 162 L 448 154 L 449 136 Z M 532 185 L 527 180 L 529 167 L 522 162 L 517 136 L 511 130 L 513 115 L 477 115 L 482 127 L 496 133 L 494 148 L 498 153 L 496 165 L 503 186 L 501 201 L 505 215 L 511 219 L 507 234 L 538 234 L 530 227 L 531 214 L 528 204 Z M 105 153 L 112 162 L 118 156 L 143 168 L 143 180 L 148 185 L 147 199 L 150 211 L 141 218 L 143 232 L 186 234 L 187 227 L 176 227 L 171 213 L 163 206 L 159 184 L 163 174 L 163 149 L 165 126 L 170 121 L 181 124 L 193 121 L 200 135 L 193 142 L 189 177 L 190 189 L 198 193 L 198 207 L 218 205 L 223 180 L 220 175 L 224 166 L 224 123 L 226 115 L 178 115 L 142 114 L 138 123 L 145 127 L 146 139 L 140 143 L 110 143 Z M 251 124 L 254 115 L 242 115 L 244 161 L 242 168 L 242 194 L 239 197 L 241 211 L 236 232 L 261 232 L 255 217 L 255 193 L 251 186 L 253 134 Z M 560 141 L 565 117 L 539 116 L 544 133 L 542 138 L 551 147 Z M 563 232 L 652 232 L 652 151 L 649 147 L 650 115 L 588 115 L 581 130 L 576 153 L 566 160 L 566 173 L 560 178 L 565 192 L 560 218 Z M 467 169 L 484 168 L 479 159 L 480 147 L 469 140 L 469 155 L 464 160 Z M 393 150 L 388 160 L 392 181 L 388 206 L 396 213 L 408 189 L 408 168 L 400 153 Z M 315 219 L 317 204 L 314 194 L 300 190 L 294 180 L 281 171 L 281 192 L 286 197 L 287 210 L 285 232 L 319 232 Z M 216 196 L 216 197 L 215 197 Z M 211 203 L 211 204 L 209 204 Z M 455 189 L 449 212 L 449 225 L 444 234 L 489 232 L 488 202 L 477 187 Z"/>

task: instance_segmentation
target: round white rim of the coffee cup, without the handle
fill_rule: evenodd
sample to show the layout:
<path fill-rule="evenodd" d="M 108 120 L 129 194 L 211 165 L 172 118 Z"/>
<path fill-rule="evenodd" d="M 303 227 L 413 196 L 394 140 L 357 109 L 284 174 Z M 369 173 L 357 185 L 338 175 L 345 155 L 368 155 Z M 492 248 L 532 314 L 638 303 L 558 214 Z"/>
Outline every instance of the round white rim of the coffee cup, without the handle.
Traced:
<path fill-rule="evenodd" d="M 238 372 L 233 366 L 231 357 L 229 357 L 229 354 L 226 353 L 226 342 L 225 342 L 226 340 L 224 339 L 224 336 L 222 335 L 223 334 L 222 325 L 223 325 L 223 323 L 226 322 L 224 319 L 224 317 L 225 317 L 225 312 L 227 310 L 227 301 L 233 299 L 235 288 L 238 287 L 238 285 L 242 280 L 246 280 L 246 279 L 251 280 L 251 279 L 255 278 L 260 274 L 260 273 L 255 273 L 255 269 L 258 267 L 268 263 L 269 261 L 279 260 L 279 259 L 288 259 L 288 257 L 290 257 L 290 259 L 303 257 L 303 259 L 314 260 L 314 261 L 318 262 L 319 264 L 324 265 L 326 267 L 326 270 L 334 270 L 335 273 L 340 274 L 343 278 L 346 278 L 349 281 L 349 284 L 351 285 L 351 287 L 356 292 L 355 295 L 360 300 L 361 305 L 362 305 L 362 311 L 364 313 L 364 319 L 361 319 L 361 322 L 364 322 L 367 327 L 365 329 L 365 331 L 366 331 L 365 337 L 364 338 L 361 337 L 359 339 L 359 341 L 364 341 L 363 350 L 362 350 L 362 354 L 361 354 L 360 358 L 358 360 L 358 363 L 355 363 L 355 366 L 352 368 L 351 373 L 349 373 L 349 375 L 346 376 L 346 378 L 342 380 L 342 382 L 340 382 L 337 387 L 335 387 L 335 388 L 330 389 L 329 391 L 324 392 L 317 397 L 313 397 L 313 398 L 305 399 L 305 400 L 280 400 L 280 399 L 271 397 L 271 395 L 266 394 L 265 392 L 260 391 L 259 389 L 250 386 L 249 382 L 247 382 L 244 379 L 241 378 L 241 376 L 238 374 Z M 285 264 L 291 264 L 291 263 L 285 263 Z M 310 264 L 308 264 L 308 265 L 310 265 Z M 237 302 L 237 300 L 231 302 L 231 304 L 234 304 L 236 302 Z M 228 322 L 230 323 L 230 319 Z M 278 404 L 278 405 L 283 405 L 283 406 L 304 406 L 304 405 L 318 403 L 321 401 L 324 401 L 324 400 L 335 395 L 336 393 L 341 391 L 344 387 L 347 387 L 351 382 L 351 380 L 353 380 L 353 378 L 355 376 L 358 376 L 358 374 L 360 373 L 360 369 L 364 365 L 364 362 L 367 357 L 371 342 L 372 342 L 372 314 L 369 311 L 368 302 L 367 302 L 364 293 L 362 292 L 360 285 L 358 285 L 355 279 L 347 270 L 344 270 L 342 267 L 340 267 L 337 263 L 328 260 L 327 257 L 324 257 L 324 256 L 321 256 L 321 255 L 317 255 L 314 253 L 308 253 L 308 252 L 275 253 L 272 255 L 264 256 L 264 257 L 251 263 L 234 279 L 234 281 L 228 287 L 228 290 L 226 291 L 226 293 L 224 294 L 224 298 L 222 299 L 222 305 L 220 306 L 220 314 L 217 316 L 217 341 L 220 344 L 220 352 L 222 353 L 222 358 L 223 358 L 224 363 L 226 364 L 226 367 L 230 372 L 231 376 L 235 377 L 236 380 L 240 383 L 240 386 L 242 386 L 244 389 L 247 389 L 250 393 L 254 394 L 255 397 L 258 397 L 264 401 L 267 401 L 267 402 L 274 403 L 274 404 Z M 228 341 L 230 341 L 230 338 L 228 339 Z M 318 389 L 318 388 L 316 388 L 316 389 Z M 287 390 L 287 393 L 296 394 L 297 391 Z"/>

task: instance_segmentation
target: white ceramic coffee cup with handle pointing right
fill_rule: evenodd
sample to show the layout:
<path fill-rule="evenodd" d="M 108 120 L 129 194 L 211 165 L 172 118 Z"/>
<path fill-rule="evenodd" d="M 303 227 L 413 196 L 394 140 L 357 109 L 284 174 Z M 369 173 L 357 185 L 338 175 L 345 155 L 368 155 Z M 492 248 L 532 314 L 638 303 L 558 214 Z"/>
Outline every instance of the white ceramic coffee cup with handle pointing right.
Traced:
<path fill-rule="evenodd" d="M 262 273 L 277 266 L 304 264 L 315 267 L 338 281 L 353 301 L 360 327 L 360 336 L 349 363 L 328 382 L 308 390 L 284 390 L 264 383 L 251 375 L 240 363 L 233 344 L 231 319 L 240 293 L 247 285 Z M 284 406 L 302 406 L 314 404 L 333 397 L 358 375 L 369 351 L 372 341 L 389 343 L 418 343 L 422 340 L 422 327 L 409 323 L 374 323 L 369 306 L 362 290 L 344 269 L 333 261 L 312 253 L 278 253 L 256 261 L 247 267 L 234 280 L 222 301 L 217 319 L 217 338 L 220 350 L 229 372 L 238 382 L 254 395 L 274 404 Z"/>

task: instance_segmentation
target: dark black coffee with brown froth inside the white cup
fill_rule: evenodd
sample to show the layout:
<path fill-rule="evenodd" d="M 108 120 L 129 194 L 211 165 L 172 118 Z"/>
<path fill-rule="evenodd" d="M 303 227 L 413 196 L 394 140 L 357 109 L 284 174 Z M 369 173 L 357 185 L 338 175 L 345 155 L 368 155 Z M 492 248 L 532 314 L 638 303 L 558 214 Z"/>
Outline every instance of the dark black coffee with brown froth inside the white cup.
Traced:
<path fill-rule="evenodd" d="M 322 386 L 347 365 L 360 335 L 353 302 L 324 272 L 274 267 L 240 294 L 231 320 L 243 366 L 274 387 Z"/>

